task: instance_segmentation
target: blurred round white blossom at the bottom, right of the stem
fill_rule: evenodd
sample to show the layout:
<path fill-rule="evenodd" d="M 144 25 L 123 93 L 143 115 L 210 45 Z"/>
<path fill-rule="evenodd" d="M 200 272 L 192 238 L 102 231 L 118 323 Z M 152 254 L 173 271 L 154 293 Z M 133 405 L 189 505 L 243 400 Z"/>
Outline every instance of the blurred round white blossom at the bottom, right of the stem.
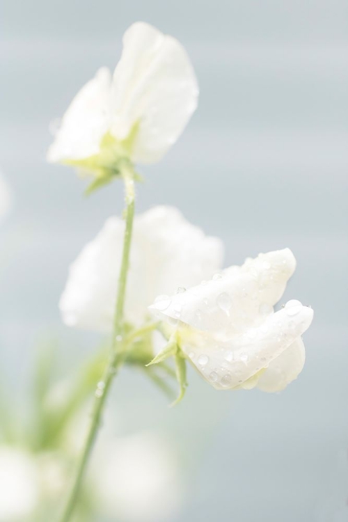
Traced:
<path fill-rule="evenodd" d="M 100 509 L 124 522 L 156 522 L 181 503 L 177 455 L 164 438 L 141 433 L 104 443 L 93 478 Z"/>

